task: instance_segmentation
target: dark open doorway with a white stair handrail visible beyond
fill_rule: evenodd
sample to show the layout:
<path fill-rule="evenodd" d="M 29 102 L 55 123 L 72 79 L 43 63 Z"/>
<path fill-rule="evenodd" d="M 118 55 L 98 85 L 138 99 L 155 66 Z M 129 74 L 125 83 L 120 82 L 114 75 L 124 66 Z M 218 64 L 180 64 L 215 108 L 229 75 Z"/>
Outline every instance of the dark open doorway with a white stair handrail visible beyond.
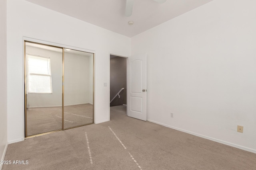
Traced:
<path fill-rule="evenodd" d="M 110 112 L 127 115 L 127 58 L 110 55 Z"/>

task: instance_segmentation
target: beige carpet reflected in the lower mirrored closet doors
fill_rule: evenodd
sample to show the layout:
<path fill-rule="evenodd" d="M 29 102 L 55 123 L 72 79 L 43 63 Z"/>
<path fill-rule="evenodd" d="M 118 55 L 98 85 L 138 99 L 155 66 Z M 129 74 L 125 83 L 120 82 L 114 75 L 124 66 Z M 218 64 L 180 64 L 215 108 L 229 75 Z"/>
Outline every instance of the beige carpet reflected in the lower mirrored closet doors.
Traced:
<path fill-rule="evenodd" d="M 64 107 L 64 129 L 93 122 L 91 104 Z M 62 107 L 27 109 L 28 136 L 62 129 Z"/>

